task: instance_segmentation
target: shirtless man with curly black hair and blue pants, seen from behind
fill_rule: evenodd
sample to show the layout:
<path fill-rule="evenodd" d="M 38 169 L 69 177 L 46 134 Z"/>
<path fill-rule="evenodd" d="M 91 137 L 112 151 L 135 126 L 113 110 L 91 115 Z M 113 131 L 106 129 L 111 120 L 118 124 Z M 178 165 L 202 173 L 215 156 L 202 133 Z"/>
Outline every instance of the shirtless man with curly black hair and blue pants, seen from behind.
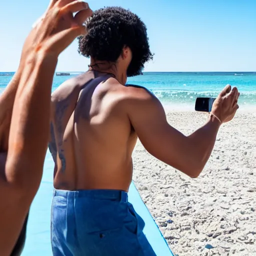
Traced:
<path fill-rule="evenodd" d="M 89 70 L 51 97 L 53 255 L 155 255 L 143 220 L 127 202 L 137 137 L 153 156 L 197 177 L 220 125 L 236 112 L 239 93 L 226 86 L 206 123 L 185 136 L 167 123 L 152 93 L 125 86 L 152 58 L 144 23 L 128 10 L 107 7 L 93 12 L 86 27 L 79 52 L 90 56 Z"/>

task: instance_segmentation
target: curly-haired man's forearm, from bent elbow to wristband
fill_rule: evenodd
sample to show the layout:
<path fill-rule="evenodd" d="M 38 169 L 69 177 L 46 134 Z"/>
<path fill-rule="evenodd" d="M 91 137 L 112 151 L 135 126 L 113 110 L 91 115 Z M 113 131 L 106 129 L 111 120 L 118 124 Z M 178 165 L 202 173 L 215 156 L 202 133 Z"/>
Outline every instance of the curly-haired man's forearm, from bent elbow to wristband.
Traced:
<path fill-rule="evenodd" d="M 200 174 L 210 157 L 219 127 L 220 122 L 213 115 L 210 115 L 201 128 L 188 136 L 193 145 L 193 155 L 198 166 L 198 173 L 195 173 L 195 176 Z"/>

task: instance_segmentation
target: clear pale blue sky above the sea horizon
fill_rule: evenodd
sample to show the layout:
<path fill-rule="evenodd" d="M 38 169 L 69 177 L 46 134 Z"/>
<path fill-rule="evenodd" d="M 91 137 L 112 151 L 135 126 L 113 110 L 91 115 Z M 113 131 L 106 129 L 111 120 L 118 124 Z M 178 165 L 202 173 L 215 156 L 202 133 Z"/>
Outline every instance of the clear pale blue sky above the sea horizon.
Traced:
<path fill-rule="evenodd" d="M 95 10 L 122 6 L 148 28 L 154 60 L 144 71 L 255 71 L 256 0 L 90 0 Z M 48 0 L 3 0 L 0 71 L 15 71 L 22 43 Z M 89 59 L 75 40 L 60 56 L 57 71 L 83 71 Z"/>

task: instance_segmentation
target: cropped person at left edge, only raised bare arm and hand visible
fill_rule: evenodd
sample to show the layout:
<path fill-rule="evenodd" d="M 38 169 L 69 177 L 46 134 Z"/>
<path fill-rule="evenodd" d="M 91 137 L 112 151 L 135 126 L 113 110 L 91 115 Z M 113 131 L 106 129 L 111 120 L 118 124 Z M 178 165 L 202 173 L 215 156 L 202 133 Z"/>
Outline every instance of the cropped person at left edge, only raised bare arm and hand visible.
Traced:
<path fill-rule="evenodd" d="M 75 17 L 72 12 L 77 12 Z M 1 256 L 22 252 L 28 210 L 47 149 L 57 58 L 74 38 L 85 34 L 82 23 L 90 14 L 85 2 L 51 0 L 45 18 L 25 40 L 17 72 L 0 95 Z"/>

